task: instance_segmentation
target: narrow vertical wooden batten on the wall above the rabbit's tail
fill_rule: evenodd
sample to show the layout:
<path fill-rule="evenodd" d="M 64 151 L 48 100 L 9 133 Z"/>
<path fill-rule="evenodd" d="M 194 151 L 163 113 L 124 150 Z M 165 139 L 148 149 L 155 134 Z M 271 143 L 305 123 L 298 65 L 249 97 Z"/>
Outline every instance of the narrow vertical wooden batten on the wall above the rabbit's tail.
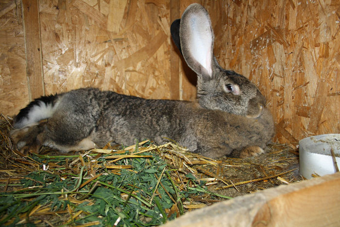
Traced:
<path fill-rule="evenodd" d="M 22 16 L 26 46 L 26 73 L 30 100 L 45 94 L 42 69 L 38 1 L 22 0 Z"/>

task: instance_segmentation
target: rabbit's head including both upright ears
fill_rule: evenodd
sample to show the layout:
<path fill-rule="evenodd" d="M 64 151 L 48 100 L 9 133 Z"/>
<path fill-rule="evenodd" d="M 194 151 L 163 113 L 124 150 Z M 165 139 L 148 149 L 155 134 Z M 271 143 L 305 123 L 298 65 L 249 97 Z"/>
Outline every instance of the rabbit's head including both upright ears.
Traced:
<path fill-rule="evenodd" d="M 171 24 L 171 35 L 188 66 L 197 74 L 197 98 L 207 109 L 258 117 L 265 98 L 254 83 L 224 70 L 213 55 L 214 34 L 208 12 L 200 4 L 187 7 Z"/>

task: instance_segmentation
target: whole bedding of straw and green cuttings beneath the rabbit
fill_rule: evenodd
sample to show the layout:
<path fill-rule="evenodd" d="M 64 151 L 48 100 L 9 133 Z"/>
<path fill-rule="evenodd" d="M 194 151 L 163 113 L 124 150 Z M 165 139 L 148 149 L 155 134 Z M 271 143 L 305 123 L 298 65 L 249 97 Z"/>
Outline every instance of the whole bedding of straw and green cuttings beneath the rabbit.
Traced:
<path fill-rule="evenodd" d="M 298 154 L 286 144 L 247 159 L 214 160 L 174 141 L 68 155 L 44 147 L 39 155 L 23 156 L 8 136 L 11 122 L 1 115 L 1 225 L 160 225 L 191 209 L 302 180 Z M 120 183 L 114 178 L 122 176 Z M 153 186 L 144 189 L 148 177 Z"/>

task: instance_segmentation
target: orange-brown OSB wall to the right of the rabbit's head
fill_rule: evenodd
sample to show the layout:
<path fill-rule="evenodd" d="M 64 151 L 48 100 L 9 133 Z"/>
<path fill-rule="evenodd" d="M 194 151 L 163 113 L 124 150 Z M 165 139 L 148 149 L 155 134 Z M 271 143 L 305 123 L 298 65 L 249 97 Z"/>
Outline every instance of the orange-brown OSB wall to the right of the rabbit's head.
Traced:
<path fill-rule="evenodd" d="M 340 1 L 204 1 L 220 64 L 260 88 L 276 138 L 340 133 Z"/>

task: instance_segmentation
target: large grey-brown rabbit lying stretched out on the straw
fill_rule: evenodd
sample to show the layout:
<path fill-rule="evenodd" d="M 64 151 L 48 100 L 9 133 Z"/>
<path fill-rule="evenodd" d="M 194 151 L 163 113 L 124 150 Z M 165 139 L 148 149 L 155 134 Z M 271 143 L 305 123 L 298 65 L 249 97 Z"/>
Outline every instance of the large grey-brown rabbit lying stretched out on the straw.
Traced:
<path fill-rule="evenodd" d="M 171 32 L 198 76 L 195 101 L 144 99 L 96 88 L 43 96 L 15 117 L 11 136 L 17 149 L 38 152 L 45 145 L 69 152 L 108 142 L 131 145 L 136 139 L 162 144 L 170 138 L 210 158 L 263 152 L 274 132 L 272 115 L 254 83 L 218 64 L 204 7 L 189 5 Z"/>

